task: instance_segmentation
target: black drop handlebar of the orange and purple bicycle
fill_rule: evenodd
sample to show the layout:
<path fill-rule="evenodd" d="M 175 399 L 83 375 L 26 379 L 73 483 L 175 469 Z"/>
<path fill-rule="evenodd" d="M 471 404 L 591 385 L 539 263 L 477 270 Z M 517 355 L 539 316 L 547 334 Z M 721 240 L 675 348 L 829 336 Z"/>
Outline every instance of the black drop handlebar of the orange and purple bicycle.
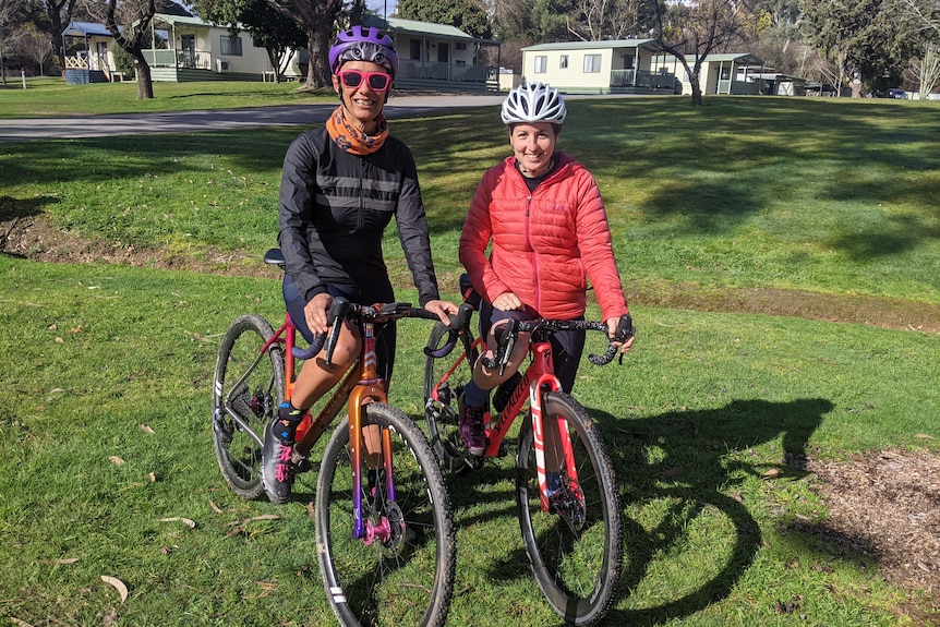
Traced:
<path fill-rule="evenodd" d="M 457 315 L 449 316 L 450 324 L 448 325 L 448 328 L 450 329 L 450 336 L 448 337 L 448 342 L 437 350 L 432 350 L 430 347 L 425 347 L 425 354 L 431 354 L 435 358 L 445 357 L 451 350 L 454 350 L 454 346 L 456 345 L 457 331 L 463 328 L 465 325 L 469 324 L 470 315 L 472 313 L 473 308 L 471 308 L 470 305 L 460 305 Z M 336 349 L 336 342 L 339 340 L 339 331 L 344 321 L 355 319 L 360 322 L 385 323 L 403 317 L 417 317 L 438 322 L 441 321 L 437 314 L 422 308 L 411 306 L 411 303 L 360 305 L 352 303 L 348 299 L 345 299 L 342 297 L 336 297 L 333 299 L 333 304 L 330 305 L 329 313 L 327 314 L 327 319 L 330 324 L 329 333 L 322 333 L 315 335 L 313 337 L 313 341 L 308 348 L 302 349 L 296 346 L 291 350 L 291 353 L 296 359 L 312 359 L 316 357 L 321 350 L 323 350 L 323 347 L 325 345 L 326 363 L 330 364 L 333 361 L 333 351 Z"/>

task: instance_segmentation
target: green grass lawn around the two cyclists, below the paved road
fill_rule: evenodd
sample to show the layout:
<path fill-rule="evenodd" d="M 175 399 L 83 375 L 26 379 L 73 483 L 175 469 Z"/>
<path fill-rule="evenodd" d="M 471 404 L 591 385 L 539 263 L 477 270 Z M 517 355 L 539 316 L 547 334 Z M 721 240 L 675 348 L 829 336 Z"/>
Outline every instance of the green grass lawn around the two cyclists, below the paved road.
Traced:
<path fill-rule="evenodd" d="M 933 600 L 887 583 L 871 555 L 822 540 L 827 505 L 788 461 L 940 450 L 937 333 L 704 311 L 719 294 L 767 288 L 781 302 L 895 299 L 933 311 L 936 106 L 569 105 L 562 146 L 598 178 L 640 334 L 624 366 L 586 362 L 575 388 L 603 429 L 625 506 L 624 588 L 605 625 L 936 623 L 936 610 L 923 614 Z M 467 204 L 508 152 L 498 109 L 391 129 L 419 162 L 453 296 Z M 258 274 L 275 243 L 280 161 L 298 132 L 0 144 L 3 225 L 48 218 L 153 258 L 129 267 L 0 255 L 0 616 L 335 624 L 305 509 L 314 477 L 302 475 L 286 506 L 241 501 L 225 487 L 209 426 L 227 326 L 244 312 L 282 315 L 277 280 L 237 275 Z M 400 299 L 414 299 L 391 233 L 385 251 Z M 161 269 L 169 261 L 210 272 Z M 701 306 L 642 298 L 667 290 L 699 294 Z M 419 418 L 430 328 L 400 328 L 391 400 Z M 513 477 L 507 458 L 451 481 L 449 625 L 558 625 L 528 569 Z M 128 600 L 101 576 L 122 580 Z"/>

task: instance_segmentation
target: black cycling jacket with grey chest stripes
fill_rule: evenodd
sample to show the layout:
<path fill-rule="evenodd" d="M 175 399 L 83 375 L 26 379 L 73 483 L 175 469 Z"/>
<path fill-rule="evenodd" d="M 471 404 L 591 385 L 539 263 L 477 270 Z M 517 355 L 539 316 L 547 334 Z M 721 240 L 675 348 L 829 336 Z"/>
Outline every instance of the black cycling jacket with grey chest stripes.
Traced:
<path fill-rule="evenodd" d="M 388 137 L 375 153 L 338 148 L 325 128 L 291 143 L 280 183 L 278 243 L 308 301 L 330 284 L 373 304 L 395 299 L 382 236 L 395 216 L 420 303 L 438 298 L 414 157 Z"/>

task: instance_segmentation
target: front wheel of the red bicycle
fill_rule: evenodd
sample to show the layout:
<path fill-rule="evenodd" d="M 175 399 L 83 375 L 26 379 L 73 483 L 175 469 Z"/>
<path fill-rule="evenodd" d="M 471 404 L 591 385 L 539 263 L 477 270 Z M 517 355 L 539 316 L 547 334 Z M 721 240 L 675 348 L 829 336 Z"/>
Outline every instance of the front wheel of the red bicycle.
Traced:
<path fill-rule="evenodd" d="M 545 430 L 568 423 L 577 486 L 563 472 L 561 490 L 542 511 L 532 420 L 519 435 L 516 497 L 522 542 L 545 599 L 571 625 L 591 625 L 614 602 L 623 565 L 623 523 L 616 480 L 604 443 L 585 409 L 563 393 L 545 395 Z M 578 487 L 582 494 L 578 494 Z"/>

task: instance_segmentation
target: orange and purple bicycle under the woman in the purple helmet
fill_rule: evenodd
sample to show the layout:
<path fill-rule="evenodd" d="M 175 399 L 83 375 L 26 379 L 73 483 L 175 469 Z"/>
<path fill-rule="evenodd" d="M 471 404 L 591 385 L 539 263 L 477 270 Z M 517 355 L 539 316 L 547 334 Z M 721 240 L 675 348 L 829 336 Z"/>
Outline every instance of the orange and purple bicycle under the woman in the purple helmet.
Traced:
<path fill-rule="evenodd" d="M 285 267 L 278 249 L 264 260 Z M 302 350 L 290 314 L 276 331 L 264 317 L 244 314 L 222 338 L 215 367 L 216 458 L 237 495 L 257 498 L 264 490 L 264 431 L 290 399 L 298 361 L 316 357 L 325 342 L 328 363 L 344 321 L 361 328 L 359 359 L 322 409 L 305 417 L 292 459 L 298 471 L 312 470 L 306 456 L 347 408 L 323 453 L 314 504 L 323 583 L 347 626 L 438 627 L 453 596 L 456 539 L 444 477 L 418 425 L 387 403 L 376 374 L 374 325 L 402 317 L 439 322 L 407 303 L 365 306 L 334 299 L 330 333 Z M 366 465 L 376 454 L 378 462 Z"/>

